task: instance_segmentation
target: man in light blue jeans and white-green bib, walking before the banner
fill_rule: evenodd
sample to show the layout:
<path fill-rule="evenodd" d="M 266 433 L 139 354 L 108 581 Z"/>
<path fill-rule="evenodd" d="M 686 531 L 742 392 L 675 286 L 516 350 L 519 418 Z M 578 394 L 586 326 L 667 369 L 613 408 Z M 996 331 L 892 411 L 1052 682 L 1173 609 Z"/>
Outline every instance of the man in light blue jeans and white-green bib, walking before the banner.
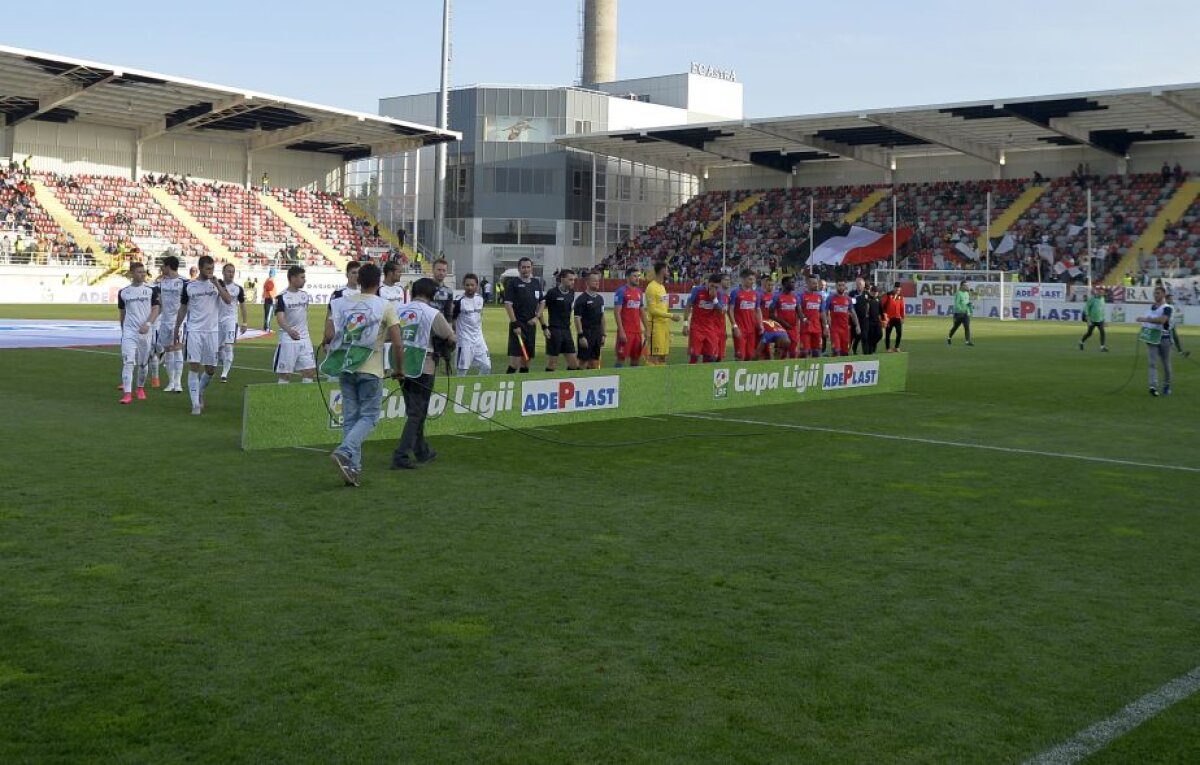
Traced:
<path fill-rule="evenodd" d="M 379 297 L 379 266 L 366 264 L 359 270 L 359 289 L 361 291 L 330 303 L 323 343 L 331 351 L 322 365 L 322 372 L 340 371 L 342 442 L 330 457 L 347 486 L 359 486 L 362 441 L 379 421 L 384 342 L 391 343 L 394 369 L 400 369 L 402 342 L 396 309 L 391 302 Z"/>

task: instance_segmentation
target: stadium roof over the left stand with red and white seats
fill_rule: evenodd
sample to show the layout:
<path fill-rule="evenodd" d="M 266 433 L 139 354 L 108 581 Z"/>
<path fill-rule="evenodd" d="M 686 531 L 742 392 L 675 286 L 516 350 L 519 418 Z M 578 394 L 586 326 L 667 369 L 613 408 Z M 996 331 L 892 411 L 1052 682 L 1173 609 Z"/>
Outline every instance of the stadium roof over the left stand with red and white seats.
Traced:
<path fill-rule="evenodd" d="M 136 131 L 139 140 L 203 135 L 247 150 L 344 161 L 458 140 L 454 131 L 244 89 L 0 46 L 0 126 L 25 120 Z"/>

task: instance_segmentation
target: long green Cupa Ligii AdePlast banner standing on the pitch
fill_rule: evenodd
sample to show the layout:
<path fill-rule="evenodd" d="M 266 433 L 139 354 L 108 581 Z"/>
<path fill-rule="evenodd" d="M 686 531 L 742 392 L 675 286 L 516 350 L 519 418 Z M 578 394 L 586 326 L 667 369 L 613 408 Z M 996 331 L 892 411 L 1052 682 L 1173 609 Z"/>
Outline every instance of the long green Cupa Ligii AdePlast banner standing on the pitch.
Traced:
<path fill-rule="evenodd" d="M 667 367 L 626 367 L 521 375 L 439 378 L 428 435 L 455 435 L 676 412 L 823 400 L 905 390 L 907 354 Z M 244 450 L 341 441 L 341 388 L 250 385 L 242 410 Z M 398 439 L 404 397 L 385 380 L 383 417 L 372 440 Z"/>

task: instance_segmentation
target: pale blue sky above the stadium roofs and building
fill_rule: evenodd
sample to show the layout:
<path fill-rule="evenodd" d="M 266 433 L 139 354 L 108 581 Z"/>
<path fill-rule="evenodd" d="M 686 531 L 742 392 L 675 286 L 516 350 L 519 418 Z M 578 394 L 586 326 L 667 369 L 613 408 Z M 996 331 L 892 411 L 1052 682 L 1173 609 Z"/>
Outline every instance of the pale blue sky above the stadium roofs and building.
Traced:
<path fill-rule="evenodd" d="M 451 84 L 571 84 L 576 0 L 457 0 Z M 16 20 L 16 19 L 14 19 Z M 23 4 L 0 42 L 329 106 L 433 90 L 440 0 Z M 778 116 L 1200 82 L 1200 2 L 623 0 L 620 77 L 734 68 Z"/>

